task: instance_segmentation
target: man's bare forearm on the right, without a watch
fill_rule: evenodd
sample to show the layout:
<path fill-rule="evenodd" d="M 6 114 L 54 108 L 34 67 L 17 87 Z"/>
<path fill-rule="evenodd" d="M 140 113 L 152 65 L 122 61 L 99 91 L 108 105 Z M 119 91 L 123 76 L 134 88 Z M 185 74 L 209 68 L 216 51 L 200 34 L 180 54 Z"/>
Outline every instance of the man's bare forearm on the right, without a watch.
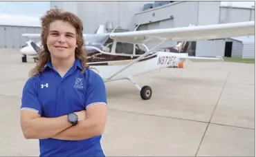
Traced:
<path fill-rule="evenodd" d="M 103 125 L 95 123 L 92 118 L 86 118 L 86 120 L 77 123 L 77 125 L 69 127 L 53 136 L 53 138 L 59 140 L 84 140 L 101 135 L 103 128 Z"/>

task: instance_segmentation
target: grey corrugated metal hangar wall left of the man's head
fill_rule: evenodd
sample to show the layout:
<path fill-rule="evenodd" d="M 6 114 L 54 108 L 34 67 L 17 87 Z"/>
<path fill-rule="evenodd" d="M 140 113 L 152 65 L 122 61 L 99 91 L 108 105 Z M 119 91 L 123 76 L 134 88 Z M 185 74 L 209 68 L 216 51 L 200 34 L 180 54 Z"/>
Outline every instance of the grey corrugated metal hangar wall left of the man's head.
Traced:
<path fill-rule="evenodd" d="M 0 48 L 21 48 L 29 39 L 21 36 L 24 33 L 41 33 L 39 27 L 0 25 Z M 39 39 L 31 39 L 38 42 Z"/>

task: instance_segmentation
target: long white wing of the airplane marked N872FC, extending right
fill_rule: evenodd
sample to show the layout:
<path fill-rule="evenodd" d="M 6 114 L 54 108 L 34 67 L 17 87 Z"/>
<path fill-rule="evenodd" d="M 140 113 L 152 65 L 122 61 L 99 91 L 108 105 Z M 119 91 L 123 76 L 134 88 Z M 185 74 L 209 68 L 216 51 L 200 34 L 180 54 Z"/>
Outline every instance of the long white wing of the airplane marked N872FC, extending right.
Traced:
<path fill-rule="evenodd" d="M 146 43 L 148 41 L 201 41 L 226 39 L 233 36 L 255 34 L 255 21 L 199 25 L 194 27 L 141 30 L 135 32 L 111 33 L 111 39 L 125 43 Z"/>

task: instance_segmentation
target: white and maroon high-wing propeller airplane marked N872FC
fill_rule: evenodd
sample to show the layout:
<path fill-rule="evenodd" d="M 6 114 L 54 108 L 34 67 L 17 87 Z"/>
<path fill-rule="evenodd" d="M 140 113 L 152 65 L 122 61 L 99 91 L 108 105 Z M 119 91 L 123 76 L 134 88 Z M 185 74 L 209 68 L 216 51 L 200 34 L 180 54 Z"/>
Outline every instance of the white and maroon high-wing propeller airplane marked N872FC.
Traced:
<path fill-rule="evenodd" d="M 140 87 L 133 81 L 132 76 L 165 67 L 179 66 L 182 65 L 185 59 L 223 61 L 221 57 L 188 56 L 187 50 L 190 41 L 255 35 L 255 21 L 190 26 L 134 32 L 86 34 L 84 45 L 88 64 L 95 69 L 95 72 L 100 74 L 105 83 L 127 79 L 140 90 L 141 98 L 148 100 L 152 97 L 151 87 L 147 85 Z M 149 41 L 158 43 L 149 50 L 145 45 Z M 160 48 L 160 45 L 166 41 L 182 42 L 172 48 Z M 38 45 L 35 43 L 32 45 L 28 46 L 35 50 L 35 54 L 37 54 L 39 52 Z M 165 50 L 169 52 L 165 52 Z"/>

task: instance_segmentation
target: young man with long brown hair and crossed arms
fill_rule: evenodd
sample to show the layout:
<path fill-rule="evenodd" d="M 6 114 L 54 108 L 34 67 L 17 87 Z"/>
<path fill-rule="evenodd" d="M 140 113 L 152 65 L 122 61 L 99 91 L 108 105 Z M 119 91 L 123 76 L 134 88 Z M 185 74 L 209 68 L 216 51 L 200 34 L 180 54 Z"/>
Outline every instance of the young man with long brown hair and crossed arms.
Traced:
<path fill-rule="evenodd" d="M 71 12 L 42 17 L 42 51 L 21 104 L 21 129 L 39 139 L 40 156 L 104 156 L 107 118 L 102 78 L 86 65 L 82 21 Z"/>

